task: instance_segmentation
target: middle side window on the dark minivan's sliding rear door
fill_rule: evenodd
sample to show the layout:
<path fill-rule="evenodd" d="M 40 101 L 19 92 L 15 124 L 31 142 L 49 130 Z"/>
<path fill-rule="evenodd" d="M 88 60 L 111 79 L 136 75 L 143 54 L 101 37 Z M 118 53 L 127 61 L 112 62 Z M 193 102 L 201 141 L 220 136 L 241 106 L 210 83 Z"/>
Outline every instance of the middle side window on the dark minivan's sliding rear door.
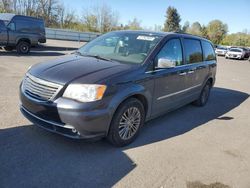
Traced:
<path fill-rule="evenodd" d="M 186 51 L 186 62 L 197 63 L 202 61 L 202 49 L 199 40 L 184 39 L 184 48 Z"/>

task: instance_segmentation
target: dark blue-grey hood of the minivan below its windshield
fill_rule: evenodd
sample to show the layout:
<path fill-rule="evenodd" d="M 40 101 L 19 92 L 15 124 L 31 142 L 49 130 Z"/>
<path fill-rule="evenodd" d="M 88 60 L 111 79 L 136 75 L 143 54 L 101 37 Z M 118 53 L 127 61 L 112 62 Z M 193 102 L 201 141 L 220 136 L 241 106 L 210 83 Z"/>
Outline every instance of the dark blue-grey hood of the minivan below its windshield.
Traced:
<path fill-rule="evenodd" d="M 133 65 L 94 57 L 66 55 L 59 59 L 39 63 L 29 70 L 35 77 L 65 85 L 81 78 L 85 83 L 96 83 L 108 76 L 125 71 Z M 86 77 L 86 80 L 84 78 Z"/>

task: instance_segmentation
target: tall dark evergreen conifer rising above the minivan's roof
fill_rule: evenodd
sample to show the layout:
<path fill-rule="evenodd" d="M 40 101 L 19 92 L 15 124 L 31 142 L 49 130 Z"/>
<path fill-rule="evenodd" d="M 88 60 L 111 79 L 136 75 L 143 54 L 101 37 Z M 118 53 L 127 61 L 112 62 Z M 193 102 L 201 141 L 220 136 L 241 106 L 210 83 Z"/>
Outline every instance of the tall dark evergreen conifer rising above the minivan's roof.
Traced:
<path fill-rule="evenodd" d="M 180 31 L 181 18 L 176 8 L 169 6 L 165 17 L 166 17 L 166 21 L 164 24 L 164 31 L 167 31 L 167 32 Z"/>

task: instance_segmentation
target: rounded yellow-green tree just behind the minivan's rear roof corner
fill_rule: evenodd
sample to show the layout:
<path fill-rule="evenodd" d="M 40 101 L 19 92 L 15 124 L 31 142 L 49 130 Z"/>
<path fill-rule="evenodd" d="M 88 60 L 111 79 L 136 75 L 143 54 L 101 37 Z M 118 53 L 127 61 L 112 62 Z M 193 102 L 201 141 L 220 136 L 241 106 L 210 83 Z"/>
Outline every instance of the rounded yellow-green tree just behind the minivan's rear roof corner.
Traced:
<path fill-rule="evenodd" d="M 213 20 L 208 23 L 207 35 L 214 44 L 220 44 L 227 32 L 227 24 L 224 24 L 220 20 Z"/>

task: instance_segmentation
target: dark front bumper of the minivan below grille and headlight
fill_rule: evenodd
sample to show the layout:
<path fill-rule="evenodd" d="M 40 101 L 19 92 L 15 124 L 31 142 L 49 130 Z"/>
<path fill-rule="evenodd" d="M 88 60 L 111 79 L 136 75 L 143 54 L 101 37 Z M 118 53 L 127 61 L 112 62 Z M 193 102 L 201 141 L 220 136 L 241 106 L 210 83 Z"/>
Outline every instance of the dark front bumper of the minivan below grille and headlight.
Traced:
<path fill-rule="evenodd" d="M 109 110 L 97 108 L 98 104 L 83 104 L 65 98 L 40 102 L 22 91 L 20 100 L 23 115 L 48 131 L 76 139 L 99 138 L 108 133 L 111 122 Z"/>

